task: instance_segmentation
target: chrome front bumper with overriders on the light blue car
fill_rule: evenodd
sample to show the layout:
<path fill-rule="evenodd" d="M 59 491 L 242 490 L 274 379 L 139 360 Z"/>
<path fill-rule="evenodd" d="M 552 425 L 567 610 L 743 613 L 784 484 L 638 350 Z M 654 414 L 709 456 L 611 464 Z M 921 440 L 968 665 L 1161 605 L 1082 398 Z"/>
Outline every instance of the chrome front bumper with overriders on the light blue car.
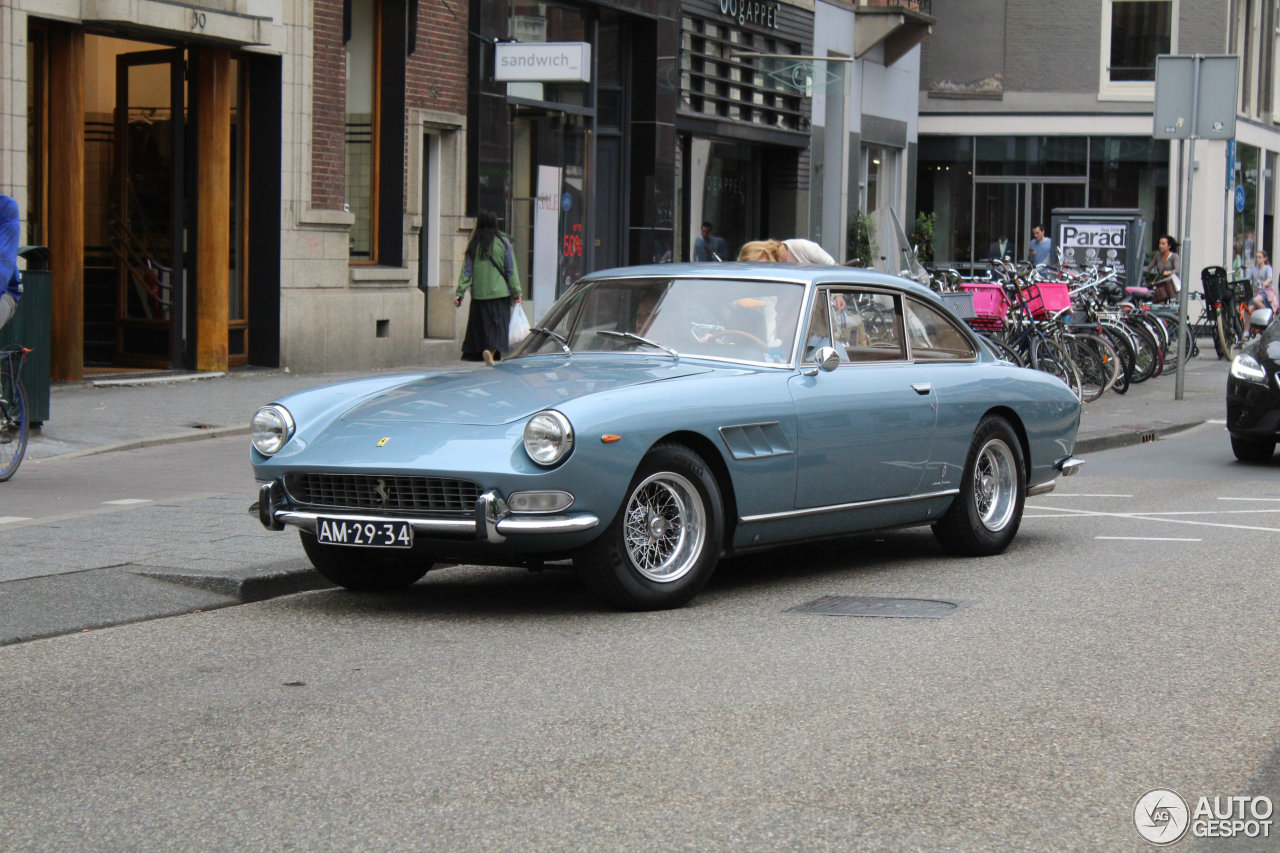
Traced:
<path fill-rule="evenodd" d="M 579 533 L 590 530 L 600 520 L 590 512 L 548 515 L 541 512 L 512 512 L 495 489 L 489 489 L 476 498 L 471 517 L 406 517 L 333 510 L 316 512 L 312 510 L 289 508 L 284 500 L 284 489 L 278 482 L 265 483 L 257 491 L 257 519 L 268 530 L 283 530 L 287 526 L 316 533 L 316 519 L 340 517 L 348 521 L 383 523 L 408 521 L 413 535 L 445 537 L 452 539 L 483 539 L 494 544 L 507 540 L 507 537 L 538 535 L 554 533 Z"/>

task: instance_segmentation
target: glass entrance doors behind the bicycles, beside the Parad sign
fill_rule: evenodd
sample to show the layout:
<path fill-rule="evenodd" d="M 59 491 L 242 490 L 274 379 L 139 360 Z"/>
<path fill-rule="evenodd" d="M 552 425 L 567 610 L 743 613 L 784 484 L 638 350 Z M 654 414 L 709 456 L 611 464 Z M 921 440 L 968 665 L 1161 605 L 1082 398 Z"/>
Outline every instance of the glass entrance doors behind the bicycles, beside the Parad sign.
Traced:
<path fill-rule="evenodd" d="M 1085 187 L 1084 181 L 975 181 L 972 257 L 1027 260 L 1032 228 L 1048 231 L 1055 207 L 1083 207 Z"/>

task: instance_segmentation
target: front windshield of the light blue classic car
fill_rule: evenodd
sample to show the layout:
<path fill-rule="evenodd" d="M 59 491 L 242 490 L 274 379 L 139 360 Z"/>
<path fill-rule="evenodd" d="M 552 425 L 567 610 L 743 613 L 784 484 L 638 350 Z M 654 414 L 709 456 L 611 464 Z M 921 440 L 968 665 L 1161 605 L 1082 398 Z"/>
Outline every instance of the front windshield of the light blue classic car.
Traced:
<path fill-rule="evenodd" d="M 788 364 L 804 286 L 726 279 L 609 279 L 573 288 L 512 355 L 678 353 Z M 538 332 L 538 328 L 548 333 Z"/>

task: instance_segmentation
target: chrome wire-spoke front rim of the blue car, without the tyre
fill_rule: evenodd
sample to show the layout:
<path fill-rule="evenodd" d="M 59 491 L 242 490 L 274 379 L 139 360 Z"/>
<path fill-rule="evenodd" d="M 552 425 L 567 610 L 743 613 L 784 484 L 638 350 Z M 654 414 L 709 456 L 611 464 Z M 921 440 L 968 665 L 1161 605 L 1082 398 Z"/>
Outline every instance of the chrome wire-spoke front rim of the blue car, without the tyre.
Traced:
<path fill-rule="evenodd" d="M 680 580 L 707 538 L 707 507 L 698 489 L 673 471 L 643 480 L 627 501 L 623 540 L 631 565 L 655 583 Z"/>

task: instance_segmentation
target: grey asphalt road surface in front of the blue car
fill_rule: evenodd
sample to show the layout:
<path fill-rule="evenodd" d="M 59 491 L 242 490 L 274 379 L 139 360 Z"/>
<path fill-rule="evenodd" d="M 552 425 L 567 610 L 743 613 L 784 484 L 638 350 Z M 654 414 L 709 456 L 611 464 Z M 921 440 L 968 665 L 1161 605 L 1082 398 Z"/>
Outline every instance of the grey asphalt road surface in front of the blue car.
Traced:
<path fill-rule="evenodd" d="M 996 558 L 833 540 L 658 613 L 460 567 L 0 647 L 0 847 L 1151 849 L 1152 788 L 1280 800 L 1277 474 L 1206 425 L 1092 455 Z"/>

